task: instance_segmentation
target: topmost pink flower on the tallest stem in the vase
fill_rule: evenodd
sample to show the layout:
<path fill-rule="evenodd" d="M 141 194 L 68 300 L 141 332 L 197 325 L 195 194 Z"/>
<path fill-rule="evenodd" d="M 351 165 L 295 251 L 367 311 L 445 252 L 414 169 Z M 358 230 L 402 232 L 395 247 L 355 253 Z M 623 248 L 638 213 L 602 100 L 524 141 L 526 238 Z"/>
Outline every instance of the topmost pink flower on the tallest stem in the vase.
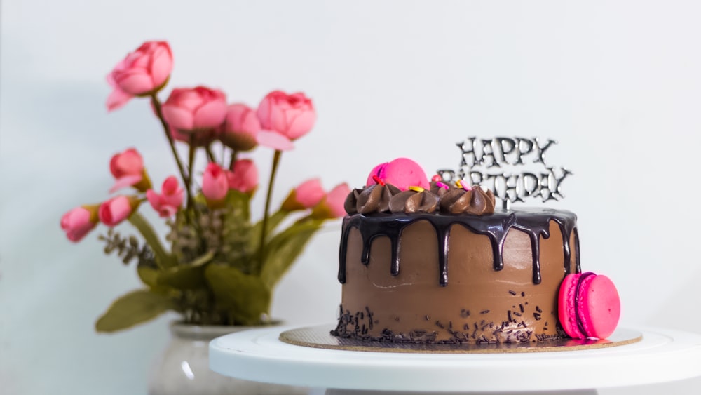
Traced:
<path fill-rule="evenodd" d="M 154 93 L 168 81 L 173 56 L 165 41 L 147 41 L 117 63 L 107 82 L 114 88 L 107 98 L 107 110 L 118 109 L 131 98 Z"/>

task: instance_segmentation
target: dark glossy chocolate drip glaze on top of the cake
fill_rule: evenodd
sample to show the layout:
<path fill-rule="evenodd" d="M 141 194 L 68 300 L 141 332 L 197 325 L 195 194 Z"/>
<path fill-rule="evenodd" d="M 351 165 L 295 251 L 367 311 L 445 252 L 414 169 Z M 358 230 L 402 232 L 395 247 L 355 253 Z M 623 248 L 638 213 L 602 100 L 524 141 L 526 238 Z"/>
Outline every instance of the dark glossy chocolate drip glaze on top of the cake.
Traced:
<path fill-rule="evenodd" d="M 515 227 L 529 235 L 531 239 L 531 252 L 533 254 L 533 283 L 539 284 L 540 278 L 540 236 L 544 239 L 550 237 L 550 220 L 554 220 L 562 232 L 562 243 L 565 265 L 569 267 L 571 250 L 569 239 L 572 232 L 575 234 L 577 272 L 579 266 L 579 236 L 577 234 L 576 215 L 564 210 L 513 210 L 496 211 L 493 215 L 442 215 L 442 214 L 356 214 L 343 220 L 343 232 L 341 234 L 341 246 L 339 250 L 339 281 L 346 283 L 346 255 L 348 253 L 348 236 L 351 228 L 360 231 L 362 239 L 361 262 L 369 264 L 370 247 L 372 241 L 379 236 L 387 236 L 391 243 L 390 274 L 397 276 L 400 271 L 400 236 L 405 227 L 418 220 L 426 220 L 436 231 L 438 241 L 438 276 L 441 286 L 448 284 L 448 262 L 450 228 L 460 224 L 477 234 L 484 234 L 491 241 L 494 255 L 494 270 L 503 269 L 503 246 L 509 229 Z"/>

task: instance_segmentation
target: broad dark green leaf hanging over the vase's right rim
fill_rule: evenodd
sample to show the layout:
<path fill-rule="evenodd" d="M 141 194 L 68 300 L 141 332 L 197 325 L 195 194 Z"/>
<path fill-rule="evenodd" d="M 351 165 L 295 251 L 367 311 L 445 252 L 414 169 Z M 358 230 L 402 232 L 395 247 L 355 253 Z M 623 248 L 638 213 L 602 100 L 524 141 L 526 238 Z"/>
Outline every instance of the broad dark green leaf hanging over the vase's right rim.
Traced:
<path fill-rule="evenodd" d="M 205 277 L 215 294 L 217 308 L 226 311 L 237 324 L 257 325 L 261 314 L 269 313 L 271 290 L 259 276 L 212 263 L 207 265 Z"/>

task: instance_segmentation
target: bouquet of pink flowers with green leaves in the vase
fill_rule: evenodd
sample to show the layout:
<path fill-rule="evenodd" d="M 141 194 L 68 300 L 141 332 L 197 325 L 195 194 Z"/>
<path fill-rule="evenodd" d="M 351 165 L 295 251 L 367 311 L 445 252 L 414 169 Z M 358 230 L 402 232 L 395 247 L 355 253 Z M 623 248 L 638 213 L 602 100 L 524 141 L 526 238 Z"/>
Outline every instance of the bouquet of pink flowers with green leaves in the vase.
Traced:
<path fill-rule="evenodd" d="M 111 304 L 95 324 L 99 332 L 129 328 L 168 310 L 181 314 L 184 323 L 266 323 L 275 284 L 322 224 L 344 213 L 348 185 L 327 193 L 318 179 L 292 189 L 271 213 L 280 156 L 315 122 L 314 107 L 304 93 L 273 91 L 252 109 L 227 105 L 222 91 L 198 86 L 173 89 L 161 102 L 158 93 L 168 84 L 172 66 L 168 43 L 144 43 L 107 76 L 114 88 L 107 108 L 117 109 L 135 97 L 150 100 L 177 175 L 165 178 L 159 192 L 139 152 L 125 149 L 109 163 L 116 179 L 109 192 L 129 188 L 130 193 L 73 208 L 61 218 L 62 229 L 74 242 L 102 222 L 108 227 L 107 234 L 99 236 L 105 253 L 118 255 L 125 264 L 137 262 L 144 288 Z M 185 145 L 185 159 L 177 144 Z M 274 154 L 265 209 L 261 219 L 252 222 L 250 203 L 258 172 L 251 159 L 239 154 L 257 146 L 271 148 Z M 199 171 L 194 168 L 197 154 L 207 158 Z M 139 213 L 144 206 L 156 210 L 170 229 L 165 235 L 170 248 Z M 141 238 L 115 230 L 125 221 Z"/>

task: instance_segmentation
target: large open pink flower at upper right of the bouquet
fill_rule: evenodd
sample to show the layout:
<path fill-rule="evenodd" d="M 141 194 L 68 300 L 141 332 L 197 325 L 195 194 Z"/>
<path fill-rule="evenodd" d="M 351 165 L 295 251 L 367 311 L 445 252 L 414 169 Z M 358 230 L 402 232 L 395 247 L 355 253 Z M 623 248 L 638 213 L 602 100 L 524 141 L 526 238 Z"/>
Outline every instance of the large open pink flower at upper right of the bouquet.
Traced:
<path fill-rule="evenodd" d="M 280 133 L 289 140 L 297 140 L 309 133 L 316 121 L 311 99 L 304 93 L 268 93 L 258 105 L 257 114 L 261 128 Z"/>

